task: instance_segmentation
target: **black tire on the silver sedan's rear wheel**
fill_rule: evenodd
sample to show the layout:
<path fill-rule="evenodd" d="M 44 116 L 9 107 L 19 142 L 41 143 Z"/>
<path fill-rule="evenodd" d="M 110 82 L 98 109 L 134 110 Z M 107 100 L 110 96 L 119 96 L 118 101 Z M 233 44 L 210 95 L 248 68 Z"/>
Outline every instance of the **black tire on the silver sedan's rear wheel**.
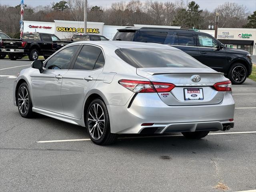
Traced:
<path fill-rule="evenodd" d="M 94 106 L 97 106 L 96 113 L 94 110 Z M 93 116 L 91 116 L 89 114 L 89 112 Z M 97 114 L 97 115 L 95 115 L 95 114 Z M 103 114 L 103 117 L 102 117 L 102 114 Z M 95 119 L 95 121 L 92 119 Z M 104 119 L 104 126 L 103 126 L 103 119 Z M 89 135 L 90 139 L 92 140 L 92 142 L 94 142 L 95 144 L 109 145 L 116 141 L 117 135 L 112 134 L 110 132 L 110 121 L 109 121 L 109 116 L 108 116 L 108 110 L 107 110 L 105 103 L 101 99 L 94 99 L 90 103 L 90 105 L 87 109 L 84 121 L 86 124 L 86 129 L 87 129 L 88 135 Z M 103 130 L 102 130 L 102 128 L 103 128 Z M 94 132 L 95 132 L 95 134 L 94 134 Z"/>

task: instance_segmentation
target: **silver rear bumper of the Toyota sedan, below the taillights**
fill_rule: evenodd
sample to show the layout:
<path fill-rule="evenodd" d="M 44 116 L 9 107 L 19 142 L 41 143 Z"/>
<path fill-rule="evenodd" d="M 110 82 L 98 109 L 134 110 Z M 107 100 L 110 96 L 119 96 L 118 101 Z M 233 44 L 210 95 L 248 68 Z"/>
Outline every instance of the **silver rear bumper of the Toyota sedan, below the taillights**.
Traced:
<path fill-rule="evenodd" d="M 223 130 L 223 124 L 234 127 L 234 100 L 227 92 L 219 104 L 194 106 L 168 106 L 156 93 L 138 94 L 130 108 L 108 105 L 111 132 L 138 134 L 146 129 L 154 133 Z M 152 126 L 141 126 L 154 123 Z M 142 131 L 143 130 L 143 131 Z"/>

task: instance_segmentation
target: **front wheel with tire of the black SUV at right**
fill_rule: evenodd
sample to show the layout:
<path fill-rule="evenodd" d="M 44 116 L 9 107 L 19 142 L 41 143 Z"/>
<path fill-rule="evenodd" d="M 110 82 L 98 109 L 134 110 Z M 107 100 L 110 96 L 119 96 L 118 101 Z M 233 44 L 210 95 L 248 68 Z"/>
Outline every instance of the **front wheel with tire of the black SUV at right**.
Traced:
<path fill-rule="evenodd" d="M 235 63 L 228 72 L 228 78 L 232 84 L 242 84 L 246 80 L 247 74 L 248 72 L 244 64 Z"/>

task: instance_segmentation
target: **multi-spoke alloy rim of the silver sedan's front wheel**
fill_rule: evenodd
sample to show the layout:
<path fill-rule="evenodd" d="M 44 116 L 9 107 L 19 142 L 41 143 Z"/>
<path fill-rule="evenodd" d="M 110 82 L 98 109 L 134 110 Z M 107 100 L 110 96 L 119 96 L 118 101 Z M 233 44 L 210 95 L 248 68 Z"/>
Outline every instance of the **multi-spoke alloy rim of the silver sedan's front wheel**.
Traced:
<path fill-rule="evenodd" d="M 28 111 L 28 103 L 28 90 L 25 86 L 22 86 L 18 93 L 18 106 L 21 114 Z"/>

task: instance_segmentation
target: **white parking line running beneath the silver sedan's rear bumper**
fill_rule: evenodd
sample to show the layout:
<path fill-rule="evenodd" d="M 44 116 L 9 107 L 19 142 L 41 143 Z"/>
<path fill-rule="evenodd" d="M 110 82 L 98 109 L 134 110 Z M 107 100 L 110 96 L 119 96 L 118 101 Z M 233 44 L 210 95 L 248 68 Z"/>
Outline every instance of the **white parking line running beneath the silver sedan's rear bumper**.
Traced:
<path fill-rule="evenodd" d="M 244 131 L 244 132 L 223 132 L 223 133 L 209 133 L 208 135 L 223 135 L 223 134 L 245 134 L 256 133 L 256 131 Z M 135 139 L 135 138 L 154 138 L 154 137 L 176 137 L 183 136 L 178 135 L 156 135 L 156 136 L 138 136 L 138 137 L 119 137 L 118 139 Z M 52 143 L 52 142 L 66 142 L 66 141 L 90 141 L 90 139 L 67 139 L 67 140 L 50 140 L 50 141 L 37 141 L 37 143 Z"/>

